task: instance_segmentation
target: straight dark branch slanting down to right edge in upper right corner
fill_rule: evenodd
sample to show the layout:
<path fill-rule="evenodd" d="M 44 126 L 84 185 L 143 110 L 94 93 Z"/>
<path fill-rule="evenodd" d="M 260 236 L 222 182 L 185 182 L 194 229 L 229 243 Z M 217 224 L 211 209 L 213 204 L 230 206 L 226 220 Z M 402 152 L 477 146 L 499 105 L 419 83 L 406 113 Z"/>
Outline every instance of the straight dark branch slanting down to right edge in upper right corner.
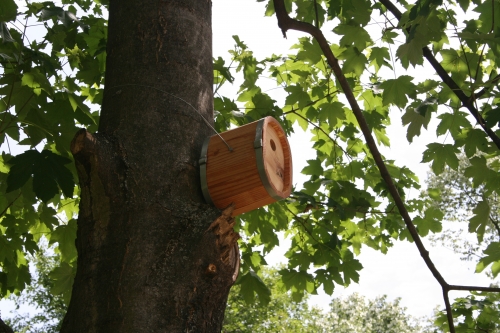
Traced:
<path fill-rule="evenodd" d="M 379 0 L 398 20 L 401 20 L 402 13 L 390 0 Z M 407 29 L 408 30 L 408 29 Z M 455 93 L 455 95 L 460 99 L 462 105 L 469 110 L 469 113 L 476 119 L 477 123 L 486 132 L 489 138 L 495 143 L 498 149 L 500 149 L 500 138 L 493 132 L 491 128 L 486 125 L 484 118 L 481 116 L 479 111 L 474 106 L 475 100 L 479 96 L 483 95 L 486 91 L 481 90 L 478 94 L 472 93 L 469 97 L 463 90 L 458 86 L 458 84 L 448 75 L 443 66 L 437 61 L 437 59 L 432 54 L 432 51 L 426 46 L 422 49 L 425 59 L 431 64 L 436 73 L 439 75 L 441 80 Z M 495 78 L 496 79 L 496 78 Z"/>

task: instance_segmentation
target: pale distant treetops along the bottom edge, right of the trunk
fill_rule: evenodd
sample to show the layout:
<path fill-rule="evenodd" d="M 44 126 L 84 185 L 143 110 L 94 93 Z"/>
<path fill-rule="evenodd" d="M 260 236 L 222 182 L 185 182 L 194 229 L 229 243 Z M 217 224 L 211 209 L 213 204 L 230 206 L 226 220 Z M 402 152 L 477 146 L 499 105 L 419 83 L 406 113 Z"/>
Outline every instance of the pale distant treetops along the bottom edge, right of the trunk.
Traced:
<path fill-rule="evenodd" d="M 422 333 L 432 332 L 429 319 L 417 320 L 401 306 L 400 299 L 387 296 L 373 300 L 357 293 L 336 298 L 325 312 L 308 305 L 305 295 L 295 302 L 283 288 L 275 269 L 263 271 L 262 281 L 271 289 L 270 301 L 245 302 L 241 286 L 229 294 L 223 332 L 305 332 L 305 333 Z M 423 325 L 425 324 L 425 325 Z"/>

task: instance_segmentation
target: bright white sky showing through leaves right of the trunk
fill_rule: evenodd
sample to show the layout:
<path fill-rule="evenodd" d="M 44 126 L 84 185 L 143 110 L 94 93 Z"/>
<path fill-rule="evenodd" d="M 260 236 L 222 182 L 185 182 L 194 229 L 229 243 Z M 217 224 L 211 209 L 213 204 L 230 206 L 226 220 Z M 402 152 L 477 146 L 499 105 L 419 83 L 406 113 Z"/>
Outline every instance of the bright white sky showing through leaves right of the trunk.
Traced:
<path fill-rule="evenodd" d="M 227 59 L 227 50 L 233 48 L 232 35 L 238 35 L 255 56 L 259 59 L 271 54 L 287 54 L 291 45 L 305 34 L 295 31 L 287 33 L 284 39 L 277 26 L 275 17 L 264 17 L 264 4 L 255 0 L 213 0 L 213 54 Z M 328 32 L 327 32 L 328 33 Z M 421 68 L 419 69 L 421 71 Z M 397 75 L 415 75 L 415 71 L 403 73 L 398 70 Z M 433 75 L 432 69 L 423 72 Z M 399 111 L 393 111 L 397 113 Z M 388 135 L 391 138 L 391 149 L 382 149 L 382 153 L 389 159 L 396 160 L 400 166 L 408 166 L 416 172 L 421 183 L 426 178 L 428 165 L 420 164 L 422 152 L 426 144 L 436 140 L 435 127 L 432 124 L 427 132 L 415 137 L 410 145 L 406 140 L 406 129 L 401 123 L 394 121 L 389 127 Z M 440 139 L 441 140 L 441 139 Z M 294 183 L 301 183 L 300 170 L 306 165 L 306 160 L 314 158 L 310 148 L 308 136 L 298 134 L 289 138 L 292 148 Z M 418 195 L 418 193 L 413 193 Z M 425 242 L 425 240 L 424 240 Z M 460 261 L 451 250 L 431 248 L 428 246 L 431 259 L 436 267 L 450 284 L 466 284 L 488 286 L 491 282 L 484 275 L 474 274 L 475 264 Z M 274 251 L 266 260 L 269 264 L 283 262 L 283 251 Z M 389 299 L 402 298 L 402 304 L 408 308 L 413 316 L 431 315 L 437 306 L 444 308 L 442 291 L 430 271 L 425 266 L 416 246 L 409 242 L 398 242 L 387 255 L 364 246 L 358 257 L 364 269 L 360 273 L 359 284 L 352 284 L 348 288 L 337 287 L 334 297 L 359 292 L 369 298 L 378 295 L 388 295 Z M 465 292 L 450 293 L 450 297 L 463 297 Z M 313 296 L 312 303 L 327 307 L 330 301 L 328 295 Z"/>

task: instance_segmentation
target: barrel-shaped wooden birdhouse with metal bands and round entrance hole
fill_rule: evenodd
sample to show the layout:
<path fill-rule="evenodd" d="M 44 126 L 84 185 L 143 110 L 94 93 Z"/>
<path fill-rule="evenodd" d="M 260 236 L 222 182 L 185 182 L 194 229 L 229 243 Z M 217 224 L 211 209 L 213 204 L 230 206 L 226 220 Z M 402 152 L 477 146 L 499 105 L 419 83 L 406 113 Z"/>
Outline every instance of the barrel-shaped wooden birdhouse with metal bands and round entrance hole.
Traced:
<path fill-rule="evenodd" d="M 234 203 L 233 216 L 284 199 L 292 189 L 285 132 L 266 117 L 213 135 L 203 144 L 200 174 L 205 200 L 220 209 Z"/>

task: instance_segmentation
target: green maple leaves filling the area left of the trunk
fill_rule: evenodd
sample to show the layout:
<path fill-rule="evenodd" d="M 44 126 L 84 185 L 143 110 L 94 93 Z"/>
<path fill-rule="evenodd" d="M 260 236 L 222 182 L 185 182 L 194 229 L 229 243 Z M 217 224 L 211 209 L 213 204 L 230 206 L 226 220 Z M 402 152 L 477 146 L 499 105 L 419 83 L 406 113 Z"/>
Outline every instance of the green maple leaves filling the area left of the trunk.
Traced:
<path fill-rule="evenodd" d="M 30 283 L 40 241 L 61 264 L 48 292 L 68 303 L 76 270 L 79 188 L 69 151 L 95 131 L 104 84 L 107 4 L 93 0 L 0 4 L 0 295 Z"/>

